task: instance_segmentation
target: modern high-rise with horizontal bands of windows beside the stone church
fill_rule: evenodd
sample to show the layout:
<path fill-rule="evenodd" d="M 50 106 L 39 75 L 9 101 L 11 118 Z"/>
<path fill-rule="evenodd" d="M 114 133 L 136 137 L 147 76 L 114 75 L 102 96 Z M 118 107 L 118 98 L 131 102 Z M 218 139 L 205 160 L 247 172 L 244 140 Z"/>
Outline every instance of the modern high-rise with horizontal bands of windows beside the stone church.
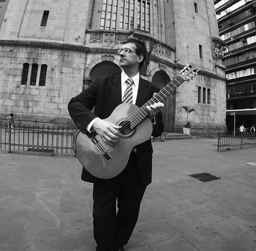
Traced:
<path fill-rule="evenodd" d="M 215 0 L 214 5 L 225 41 L 227 128 L 251 128 L 256 124 L 256 0 Z"/>

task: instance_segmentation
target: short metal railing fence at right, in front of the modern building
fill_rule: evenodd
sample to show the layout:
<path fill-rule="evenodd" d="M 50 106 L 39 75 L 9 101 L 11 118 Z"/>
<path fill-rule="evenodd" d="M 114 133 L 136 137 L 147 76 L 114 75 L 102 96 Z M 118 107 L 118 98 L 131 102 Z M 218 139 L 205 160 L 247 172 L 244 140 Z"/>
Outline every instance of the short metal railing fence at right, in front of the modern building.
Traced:
<path fill-rule="evenodd" d="M 219 133 L 218 137 L 218 149 L 228 150 L 228 149 L 242 149 L 256 147 L 256 135 L 254 133 Z"/>

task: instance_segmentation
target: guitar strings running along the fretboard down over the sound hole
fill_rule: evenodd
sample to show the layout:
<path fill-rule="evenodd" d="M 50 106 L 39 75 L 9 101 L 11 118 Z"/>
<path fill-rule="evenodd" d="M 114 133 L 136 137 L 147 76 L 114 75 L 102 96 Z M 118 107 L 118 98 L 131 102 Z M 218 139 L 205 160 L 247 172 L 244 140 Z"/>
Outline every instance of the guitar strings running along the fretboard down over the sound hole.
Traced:
<path fill-rule="evenodd" d="M 181 81 L 178 81 L 178 79 L 181 79 Z M 177 82 L 177 86 L 173 83 L 174 81 Z M 173 79 L 170 84 L 168 84 L 167 86 L 165 86 L 161 91 L 159 91 L 155 96 L 153 96 L 150 100 L 148 100 L 148 102 L 146 104 L 144 104 L 143 106 L 141 106 L 136 112 L 134 112 L 130 117 L 127 118 L 126 122 L 123 124 L 122 126 L 122 132 L 124 133 L 129 133 L 130 130 L 132 130 L 138 123 L 140 123 L 146 116 L 149 115 L 149 111 L 148 109 L 146 108 L 146 106 L 148 105 L 151 105 L 152 102 L 156 103 L 157 101 L 160 102 L 160 101 L 163 101 L 165 98 L 167 98 L 168 96 L 166 96 L 164 94 L 164 92 L 166 92 L 166 94 L 170 95 L 172 92 L 175 91 L 175 89 L 177 89 L 182 83 L 184 82 L 184 80 L 182 79 L 181 77 L 181 74 L 178 75 L 175 79 Z M 171 85 L 172 84 L 172 85 Z M 172 89 L 172 87 L 175 87 Z M 169 93 L 167 91 L 167 88 L 169 88 L 171 91 L 171 93 Z M 162 97 L 161 94 L 164 96 Z M 157 98 L 157 96 L 159 96 L 160 98 Z M 144 115 L 143 116 L 141 116 Z M 133 123 L 132 121 L 137 122 L 137 123 Z M 131 125 L 132 124 L 132 125 Z M 134 125 L 133 125 L 134 124 Z"/>

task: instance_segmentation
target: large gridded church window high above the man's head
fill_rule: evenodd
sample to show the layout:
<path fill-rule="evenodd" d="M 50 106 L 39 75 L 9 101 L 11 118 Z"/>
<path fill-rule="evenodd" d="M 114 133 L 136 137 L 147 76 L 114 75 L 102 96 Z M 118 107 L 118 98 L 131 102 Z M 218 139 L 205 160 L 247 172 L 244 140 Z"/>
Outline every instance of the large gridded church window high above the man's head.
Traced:
<path fill-rule="evenodd" d="M 134 26 L 135 20 L 136 26 Z M 150 0 L 103 0 L 100 29 L 137 28 L 149 32 L 149 24 Z"/>

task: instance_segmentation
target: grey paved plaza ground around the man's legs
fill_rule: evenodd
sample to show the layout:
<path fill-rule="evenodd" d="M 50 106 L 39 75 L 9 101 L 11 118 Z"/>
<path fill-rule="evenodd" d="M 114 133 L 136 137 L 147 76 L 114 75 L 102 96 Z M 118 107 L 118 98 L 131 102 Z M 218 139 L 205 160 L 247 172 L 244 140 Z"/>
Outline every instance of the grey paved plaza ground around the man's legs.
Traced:
<path fill-rule="evenodd" d="M 154 141 L 153 182 L 127 251 L 256 250 L 256 148 Z M 71 155 L 0 150 L 0 250 L 95 250 L 92 184 Z M 220 179 L 202 182 L 189 175 Z"/>

